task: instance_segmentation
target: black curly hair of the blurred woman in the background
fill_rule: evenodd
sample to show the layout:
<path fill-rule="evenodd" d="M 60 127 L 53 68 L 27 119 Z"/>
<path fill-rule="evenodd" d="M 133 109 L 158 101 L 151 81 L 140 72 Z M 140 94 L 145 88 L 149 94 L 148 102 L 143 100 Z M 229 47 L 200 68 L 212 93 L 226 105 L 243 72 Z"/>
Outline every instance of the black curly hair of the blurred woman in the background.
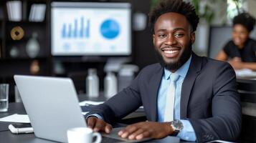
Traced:
<path fill-rule="evenodd" d="M 237 16 L 234 16 L 233 19 L 233 26 L 235 24 L 245 26 L 245 28 L 250 32 L 255 26 L 255 18 L 248 13 L 238 14 Z"/>

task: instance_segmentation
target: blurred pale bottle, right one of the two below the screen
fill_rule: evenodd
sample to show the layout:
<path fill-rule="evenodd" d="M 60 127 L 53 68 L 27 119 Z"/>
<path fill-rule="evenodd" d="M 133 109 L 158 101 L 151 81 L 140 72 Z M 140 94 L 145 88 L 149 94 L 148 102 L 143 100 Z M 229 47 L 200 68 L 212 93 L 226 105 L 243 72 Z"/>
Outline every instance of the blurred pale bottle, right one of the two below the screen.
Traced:
<path fill-rule="evenodd" d="M 105 97 L 113 97 L 118 92 L 118 84 L 115 74 L 111 71 L 108 71 L 104 79 L 104 94 Z"/>

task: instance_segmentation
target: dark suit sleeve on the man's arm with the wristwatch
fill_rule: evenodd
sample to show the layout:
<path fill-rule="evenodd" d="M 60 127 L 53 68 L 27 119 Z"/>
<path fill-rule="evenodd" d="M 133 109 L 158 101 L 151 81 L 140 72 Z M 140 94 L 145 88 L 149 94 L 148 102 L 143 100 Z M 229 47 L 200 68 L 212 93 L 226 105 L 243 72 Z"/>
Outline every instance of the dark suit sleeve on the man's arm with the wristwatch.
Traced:
<path fill-rule="evenodd" d="M 212 117 L 189 119 L 197 142 L 214 139 L 235 141 L 240 135 L 242 113 L 234 70 L 229 64 L 222 64 L 215 73 L 212 80 Z"/>

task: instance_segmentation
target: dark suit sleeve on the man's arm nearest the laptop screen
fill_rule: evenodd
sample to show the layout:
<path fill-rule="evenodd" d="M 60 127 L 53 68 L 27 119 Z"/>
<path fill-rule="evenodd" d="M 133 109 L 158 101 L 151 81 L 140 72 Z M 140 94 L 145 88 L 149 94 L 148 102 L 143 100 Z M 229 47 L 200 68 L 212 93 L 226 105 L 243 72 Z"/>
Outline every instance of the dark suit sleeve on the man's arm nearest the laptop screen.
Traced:
<path fill-rule="evenodd" d="M 143 70 L 129 87 L 118 92 L 114 97 L 108 99 L 107 102 L 94 107 L 85 117 L 91 114 L 99 114 L 103 117 L 105 122 L 112 123 L 116 119 L 122 119 L 131 112 L 136 111 L 136 109 L 142 105 L 141 94 L 138 87 L 142 72 Z"/>

